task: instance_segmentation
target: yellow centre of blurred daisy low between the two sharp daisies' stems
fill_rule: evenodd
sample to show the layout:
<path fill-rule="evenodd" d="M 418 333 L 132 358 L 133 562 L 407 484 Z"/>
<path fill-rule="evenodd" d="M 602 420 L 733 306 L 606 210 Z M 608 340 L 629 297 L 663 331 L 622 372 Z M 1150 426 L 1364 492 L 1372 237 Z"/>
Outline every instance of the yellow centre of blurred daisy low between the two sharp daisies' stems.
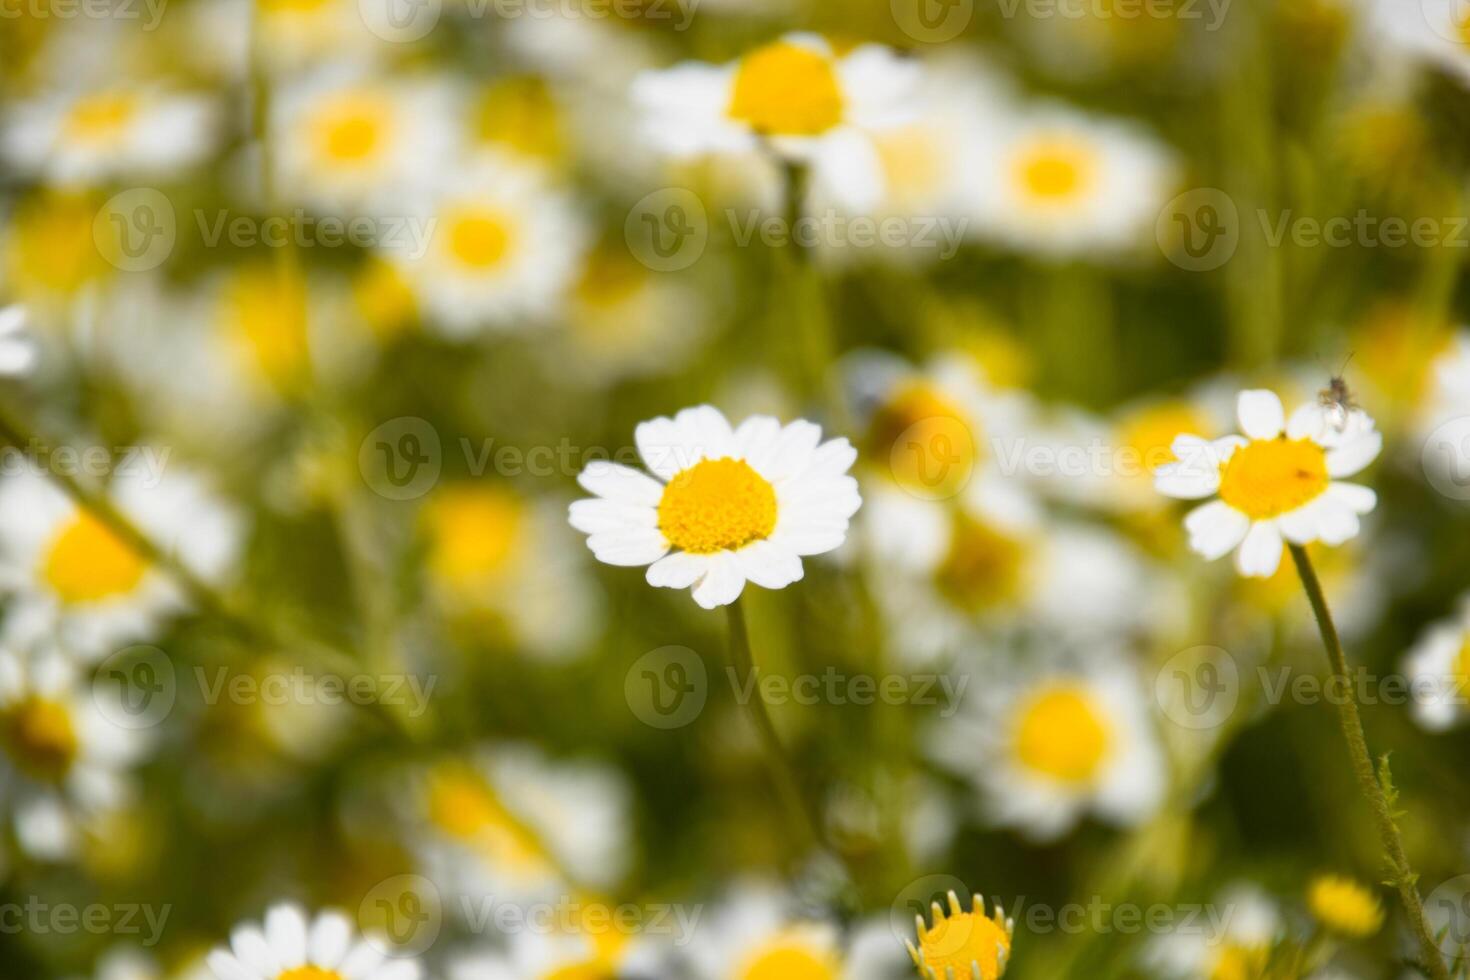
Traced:
<path fill-rule="evenodd" d="M 1042 691 L 1022 708 L 1016 723 L 1020 763 L 1063 783 L 1092 782 L 1111 742 L 1107 721 L 1080 688 Z"/>

